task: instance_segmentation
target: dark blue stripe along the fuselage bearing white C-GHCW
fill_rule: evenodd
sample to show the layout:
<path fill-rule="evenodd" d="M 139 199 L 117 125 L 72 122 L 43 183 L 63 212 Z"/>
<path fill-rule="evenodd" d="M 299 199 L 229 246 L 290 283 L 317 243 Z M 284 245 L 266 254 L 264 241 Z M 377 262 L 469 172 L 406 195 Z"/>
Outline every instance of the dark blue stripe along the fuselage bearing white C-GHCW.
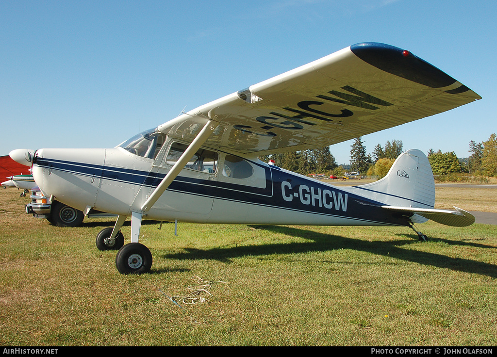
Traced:
<path fill-rule="evenodd" d="M 52 168 L 52 170 L 88 177 L 101 177 L 102 180 L 151 188 L 157 187 L 166 176 L 162 173 L 136 169 L 48 158 L 38 158 L 36 165 Z M 405 217 L 386 212 L 381 209 L 382 204 L 379 202 L 341 191 L 316 180 L 289 174 L 277 167 L 258 166 L 264 168 L 266 188 L 177 176 L 167 190 L 290 211 L 338 216 L 383 224 L 407 225 Z"/>

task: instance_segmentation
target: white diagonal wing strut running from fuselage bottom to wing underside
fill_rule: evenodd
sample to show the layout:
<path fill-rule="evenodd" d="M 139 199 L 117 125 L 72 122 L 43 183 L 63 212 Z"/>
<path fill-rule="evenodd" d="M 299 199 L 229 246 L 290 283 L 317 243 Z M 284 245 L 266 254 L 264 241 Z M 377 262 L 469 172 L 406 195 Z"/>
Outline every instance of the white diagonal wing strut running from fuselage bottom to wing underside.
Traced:
<path fill-rule="evenodd" d="M 167 187 L 171 184 L 171 182 L 176 178 L 179 172 L 183 169 L 183 167 L 188 163 L 193 154 L 197 152 L 197 150 L 202 146 L 203 143 L 209 138 L 212 132 L 218 127 L 218 123 L 209 120 L 197 135 L 197 137 L 191 142 L 191 144 L 186 148 L 183 154 L 179 157 L 176 163 L 172 166 L 172 168 L 167 173 L 166 177 L 161 181 L 159 186 L 152 192 L 150 197 L 145 201 L 141 210 L 143 212 L 149 211 L 152 206 L 157 202 L 159 197 L 166 191 Z"/>

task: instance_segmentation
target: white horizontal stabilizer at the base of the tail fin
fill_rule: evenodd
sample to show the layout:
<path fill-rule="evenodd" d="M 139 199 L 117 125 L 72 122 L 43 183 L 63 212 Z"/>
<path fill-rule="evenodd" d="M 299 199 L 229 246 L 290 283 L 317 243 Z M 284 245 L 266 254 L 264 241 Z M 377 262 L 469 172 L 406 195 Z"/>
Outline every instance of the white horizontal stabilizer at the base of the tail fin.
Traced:
<path fill-rule="evenodd" d="M 382 208 L 404 214 L 418 214 L 424 218 L 434 220 L 437 223 L 454 227 L 465 227 L 475 223 L 473 214 L 457 207 L 454 207 L 456 211 L 395 206 L 382 206 Z"/>

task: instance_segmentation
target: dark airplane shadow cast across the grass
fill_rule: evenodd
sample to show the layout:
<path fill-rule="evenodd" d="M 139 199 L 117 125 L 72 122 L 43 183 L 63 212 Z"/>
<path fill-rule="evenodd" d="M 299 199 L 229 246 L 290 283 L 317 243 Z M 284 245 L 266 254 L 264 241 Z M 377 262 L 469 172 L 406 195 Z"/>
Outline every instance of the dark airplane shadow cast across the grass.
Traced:
<path fill-rule="evenodd" d="M 326 252 L 338 249 L 352 249 L 377 255 L 389 256 L 391 258 L 404 261 L 423 264 L 443 269 L 451 269 L 470 274 L 486 275 L 491 278 L 497 278 L 497 266 L 494 264 L 479 262 L 471 259 L 452 258 L 442 254 L 421 252 L 416 250 L 404 249 L 402 245 L 409 245 L 417 242 L 417 235 L 405 235 L 403 237 L 412 237 L 412 239 L 399 239 L 388 242 L 374 241 L 369 242 L 361 239 L 342 237 L 332 234 L 324 234 L 310 231 L 302 228 L 284 227 L 284 226 L 254 226 L 257 229 L 265 229 L 271 232 L 283 232 L 294 237 L 310 239 L 311 242 L 279 243 L 248 245 L 229 248 L 212 248 L 207 250 L 184 248 L 186 252 L 166 254 L 165 259 L 215 259 L 223 262 L 231 262 L 232 258 L 244 256 L 264 256 L 270 254 L 294 254 L 307 252 Z M 479 248 L 495 248 L 489 245 L 477 244 L 472 242 L 450 241 L 445 239 L 434 238 L 431 241 L 444 242 L 447 244 L 457 244 L 474 246 Z"/>

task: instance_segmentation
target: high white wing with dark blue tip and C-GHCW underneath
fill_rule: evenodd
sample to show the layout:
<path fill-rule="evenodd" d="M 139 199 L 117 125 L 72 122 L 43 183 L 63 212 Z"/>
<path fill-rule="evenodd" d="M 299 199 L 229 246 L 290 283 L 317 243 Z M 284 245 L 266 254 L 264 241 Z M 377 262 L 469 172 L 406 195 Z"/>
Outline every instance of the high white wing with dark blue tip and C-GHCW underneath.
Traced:
<path fill-rule="evenodd" d="M 200 106 L 158 127 L 206 146 L 256 155 L 323 147 L 441 113 L 481 97 L 406 50 L 352 45 Z"/>

